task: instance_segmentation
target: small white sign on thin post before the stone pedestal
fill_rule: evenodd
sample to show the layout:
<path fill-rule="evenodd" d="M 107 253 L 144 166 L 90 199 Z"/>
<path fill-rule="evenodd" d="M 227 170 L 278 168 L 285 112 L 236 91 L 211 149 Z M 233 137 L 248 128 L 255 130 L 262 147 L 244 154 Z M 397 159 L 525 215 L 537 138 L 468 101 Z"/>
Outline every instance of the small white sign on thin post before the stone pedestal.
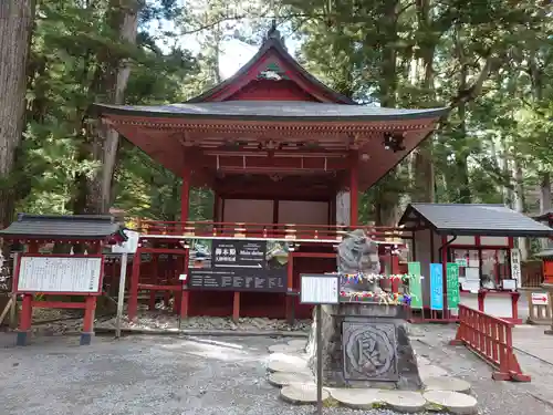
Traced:
<path fill-rule="evenodd" d="M 337 274 L 301 274 L 300 302 L 315 305 L 316 336 L 316 414 L 323 414 L 323 342 L 322 314 L 323 304 L 340 303 L 340 276 Z"/>

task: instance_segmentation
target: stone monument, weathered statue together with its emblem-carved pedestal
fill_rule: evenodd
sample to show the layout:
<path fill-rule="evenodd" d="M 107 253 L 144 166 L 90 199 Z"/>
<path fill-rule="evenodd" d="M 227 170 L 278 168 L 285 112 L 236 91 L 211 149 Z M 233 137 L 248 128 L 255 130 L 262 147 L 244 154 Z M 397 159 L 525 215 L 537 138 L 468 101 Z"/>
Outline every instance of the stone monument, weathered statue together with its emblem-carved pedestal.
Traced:
<path fill-rule="evenodd" d="M 378 274 L 378 249 L 361 230 L 347 235 L 337 249 L 344 274 Z M 341 291 L 378 293 L 378 280 L 347 282 Z M 379 387 L 417 391 L 421 382 L 407 334 L 403 305 L 349 301 L 322 307 L 323 384 L 332 387 Z M 316 367 L 315 319 L 310 333 L 310 367 Z"/>

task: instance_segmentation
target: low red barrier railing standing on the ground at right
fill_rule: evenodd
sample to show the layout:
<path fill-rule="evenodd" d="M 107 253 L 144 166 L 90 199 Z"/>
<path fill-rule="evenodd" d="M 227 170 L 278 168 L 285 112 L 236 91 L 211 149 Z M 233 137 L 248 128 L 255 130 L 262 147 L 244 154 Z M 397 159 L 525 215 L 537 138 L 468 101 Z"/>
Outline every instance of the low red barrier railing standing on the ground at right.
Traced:
<path fill-rule="evenodd" d="M 530 382 L 514 355 L 513 326 L 503 319 L 459 304 L 459 329 L 450 344 L 465 344 L 494 366 L 494 381 Z"/>

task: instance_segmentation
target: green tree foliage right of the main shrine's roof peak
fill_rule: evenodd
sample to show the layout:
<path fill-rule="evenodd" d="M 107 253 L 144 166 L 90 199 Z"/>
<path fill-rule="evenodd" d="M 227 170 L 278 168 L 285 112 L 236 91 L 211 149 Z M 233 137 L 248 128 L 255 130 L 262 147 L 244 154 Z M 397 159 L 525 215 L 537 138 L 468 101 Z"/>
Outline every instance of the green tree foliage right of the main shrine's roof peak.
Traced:
<path fill-rule="evenodd" d="M 305 65 L 358 102 L 384 106 L 449 106 L 426 145 L 432 180 L 417 183 L 405 159 L 362 200 L 361 217 L 435 190 L 434 200 L 510 203 L 517 187 L 551 170 L 552 7 L 507 0 L 286 0 L 302 33 Z M 309 19 L 304 19 L 309 15 Z M 426 170 L 425 170 L 426 173 Z M 422 189 L 420 189 L 422 187 Z M 426 189 L 425 189 L 426 187 Z M 384 212 L 386 214 L 386 211 Z"/>

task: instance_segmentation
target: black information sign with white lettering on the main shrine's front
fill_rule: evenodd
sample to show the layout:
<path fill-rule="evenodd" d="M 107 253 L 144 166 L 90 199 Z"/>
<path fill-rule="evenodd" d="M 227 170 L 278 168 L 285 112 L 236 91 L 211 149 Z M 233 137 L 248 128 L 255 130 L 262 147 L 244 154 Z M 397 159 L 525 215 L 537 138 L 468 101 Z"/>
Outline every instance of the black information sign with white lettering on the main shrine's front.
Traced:
<path fill-rule="evenodd" d="M 285 292 L 286 242 L 195 239 L 190 246 L 188 288 Z"/>

